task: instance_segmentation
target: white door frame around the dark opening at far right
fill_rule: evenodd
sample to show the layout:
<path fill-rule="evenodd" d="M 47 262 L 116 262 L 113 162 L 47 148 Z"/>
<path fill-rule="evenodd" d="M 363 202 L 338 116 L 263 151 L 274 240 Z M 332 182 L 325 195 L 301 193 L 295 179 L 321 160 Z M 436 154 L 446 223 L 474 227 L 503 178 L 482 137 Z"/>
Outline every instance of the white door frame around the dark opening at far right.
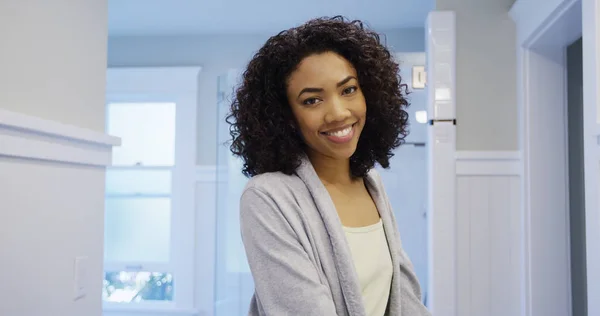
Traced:
<path fill-rule="evenodd" d="M 600 314 L 598 0 L 517 0 L 523 152 L 521 315 L 571 315 L 566 47 L 584 37 L 584 158 L 588 314 Z M 595 281 L 595 282 L 594 282 Z M 566 295 L 566 297 L 565 297 Z"/>

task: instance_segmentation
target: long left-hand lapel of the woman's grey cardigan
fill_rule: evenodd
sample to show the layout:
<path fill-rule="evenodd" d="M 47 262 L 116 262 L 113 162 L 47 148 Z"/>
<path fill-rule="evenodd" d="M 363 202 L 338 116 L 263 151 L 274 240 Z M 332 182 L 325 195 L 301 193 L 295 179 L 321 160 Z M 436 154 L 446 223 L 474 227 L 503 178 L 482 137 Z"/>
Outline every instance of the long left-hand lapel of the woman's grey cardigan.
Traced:
<path fill-rule="evenodd" d="M 366 316 L 352 253 L 331 196 L 307 157 L 302 159 L 296 173 L 306 184 L 327 229 L 348 314 L 350 316 Z"/>

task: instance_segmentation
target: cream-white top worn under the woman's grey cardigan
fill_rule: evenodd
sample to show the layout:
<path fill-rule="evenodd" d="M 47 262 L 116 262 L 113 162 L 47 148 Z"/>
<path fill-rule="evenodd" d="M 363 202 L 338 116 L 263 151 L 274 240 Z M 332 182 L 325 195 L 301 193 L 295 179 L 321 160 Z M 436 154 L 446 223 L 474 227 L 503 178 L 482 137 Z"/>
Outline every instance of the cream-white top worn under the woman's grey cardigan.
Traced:
<path fill-rule="evenodd" d="M 394 267 L 383 222 L 344 227 L 368 316 L 383 316 L 387 308 Z"/>

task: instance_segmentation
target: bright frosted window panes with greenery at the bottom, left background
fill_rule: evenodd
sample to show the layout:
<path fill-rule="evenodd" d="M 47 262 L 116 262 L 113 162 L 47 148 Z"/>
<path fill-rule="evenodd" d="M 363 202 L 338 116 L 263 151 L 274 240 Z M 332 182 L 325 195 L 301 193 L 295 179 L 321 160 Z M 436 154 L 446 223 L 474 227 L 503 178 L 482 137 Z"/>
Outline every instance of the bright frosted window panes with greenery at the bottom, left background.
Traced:
<path fill-rule="evenodd" d="M 122 139 L 106 172 L 107 302 L 173 300 L 174 103 L 109 103 L 107 131 Z"/>

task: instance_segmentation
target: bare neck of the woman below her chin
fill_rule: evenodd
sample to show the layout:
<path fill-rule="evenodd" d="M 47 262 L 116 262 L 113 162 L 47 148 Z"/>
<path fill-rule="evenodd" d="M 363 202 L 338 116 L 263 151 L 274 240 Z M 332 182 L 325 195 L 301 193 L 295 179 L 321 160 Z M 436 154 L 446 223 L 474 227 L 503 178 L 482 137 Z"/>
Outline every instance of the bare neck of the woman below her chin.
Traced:
<path fill-rule="evenodd" d="M 317 153 L 308 154 L 308 158 L 325 185 L 349 185 L 356 180 L 350 172 L 350 159 L 334 159 Z"/>

